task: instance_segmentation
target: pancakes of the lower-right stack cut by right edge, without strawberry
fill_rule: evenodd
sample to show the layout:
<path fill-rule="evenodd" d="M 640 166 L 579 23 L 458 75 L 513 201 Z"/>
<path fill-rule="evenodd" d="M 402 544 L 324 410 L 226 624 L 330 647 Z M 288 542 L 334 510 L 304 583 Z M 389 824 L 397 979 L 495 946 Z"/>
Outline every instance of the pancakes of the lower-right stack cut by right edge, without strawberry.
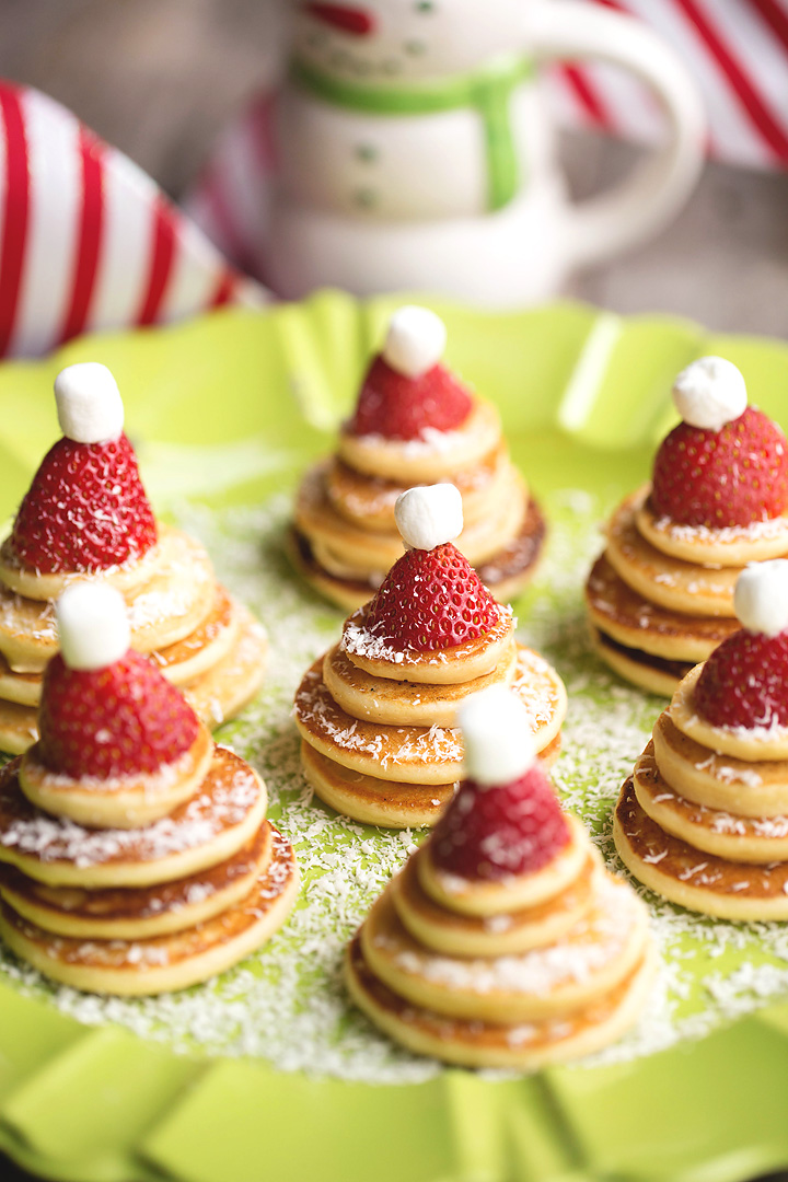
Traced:
<path fill-rule="evenodd" d="M 616 846 L 650 890 L 725 920 L 788 920 L 788 729 L 712 726 L 693 669 L 621 788 Z"/>

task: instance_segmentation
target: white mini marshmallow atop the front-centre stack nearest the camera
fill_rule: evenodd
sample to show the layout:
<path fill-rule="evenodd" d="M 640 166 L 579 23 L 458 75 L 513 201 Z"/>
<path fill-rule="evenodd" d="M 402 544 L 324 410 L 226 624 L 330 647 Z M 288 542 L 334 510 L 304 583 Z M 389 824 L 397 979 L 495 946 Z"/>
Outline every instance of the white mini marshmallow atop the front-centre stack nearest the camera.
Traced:
<path fill-rule="evenodd" d="M 457 710 L 465 748 L 463 773 L 486 787 L 510 784 L 533 767 L 536 747 L 528 712 L 503 686 L 490 686 Z"/>

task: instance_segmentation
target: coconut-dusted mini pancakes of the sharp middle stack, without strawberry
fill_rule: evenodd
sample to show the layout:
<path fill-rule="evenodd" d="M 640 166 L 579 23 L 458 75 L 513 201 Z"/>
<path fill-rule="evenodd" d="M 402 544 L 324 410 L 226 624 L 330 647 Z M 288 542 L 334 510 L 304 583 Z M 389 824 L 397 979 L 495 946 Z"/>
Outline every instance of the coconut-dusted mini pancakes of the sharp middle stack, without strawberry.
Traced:
<path fill-rule="evenodd" d="M 491 631 L 456 648 L 418 651 L 382 643 L 369 605 L 306 673 L 295 695 L 301 762 L 318 797 L 356 820 L 434 825 L 462 766 L 457 706 L 493 684 L 528 708 L 541 759 L 558 758 L 566 690 L 555 670 L 514 637 L 509 608 Z"/>

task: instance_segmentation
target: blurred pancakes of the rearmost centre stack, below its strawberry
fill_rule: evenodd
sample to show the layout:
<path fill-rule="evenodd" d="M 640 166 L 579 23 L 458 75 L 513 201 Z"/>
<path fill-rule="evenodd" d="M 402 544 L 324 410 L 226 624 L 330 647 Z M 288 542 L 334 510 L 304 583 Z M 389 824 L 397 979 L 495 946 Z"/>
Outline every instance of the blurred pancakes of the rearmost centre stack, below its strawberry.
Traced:
<path fill-rule="evenodd" d="M 382 355 L 389 357 L 386 348 Z M 356 435 L 347 423 L 337 454 L 312 468 L 295 504 L 291 550 L 298 570 L 340 608 L 369 599 L 403 553 L 393 508 L 413 485 L 450 481 L 462 494 L 458 548 L 501 603 L 535 569 L 545 520 L 513 467 L 497 410 L 470 392 L 471 409 L 452 430 L 422 437 Z"/>

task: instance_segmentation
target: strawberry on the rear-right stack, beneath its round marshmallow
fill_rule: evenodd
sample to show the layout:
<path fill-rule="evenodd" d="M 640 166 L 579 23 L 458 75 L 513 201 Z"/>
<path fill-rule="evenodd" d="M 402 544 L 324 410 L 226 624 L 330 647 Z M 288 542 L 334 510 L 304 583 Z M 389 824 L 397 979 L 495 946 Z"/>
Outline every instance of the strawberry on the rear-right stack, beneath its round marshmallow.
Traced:
<path fill-rule="evenodd" d="M 651 507 L 709 528 L 780 517 L 788 508 L 786 436 L 755 407 L 718 431 L 680 423 L 657 453 Z"/>

